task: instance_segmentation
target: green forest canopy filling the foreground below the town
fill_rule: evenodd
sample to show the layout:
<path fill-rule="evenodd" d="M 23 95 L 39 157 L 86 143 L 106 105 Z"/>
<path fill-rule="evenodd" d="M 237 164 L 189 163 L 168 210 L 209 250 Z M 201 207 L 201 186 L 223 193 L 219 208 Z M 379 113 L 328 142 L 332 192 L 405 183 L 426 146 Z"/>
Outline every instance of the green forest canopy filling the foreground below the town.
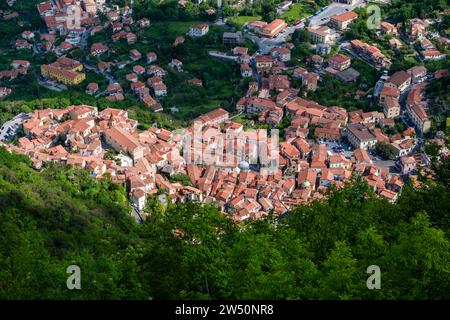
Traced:
<path fill-rule="evenodd" d="M 396 204 L 355 178 L 282 218 L 155 198 L 136 224 L 125 187 L 0 148 L 0 299 L 448 299 L 450 161 L 434 171 Z"/>

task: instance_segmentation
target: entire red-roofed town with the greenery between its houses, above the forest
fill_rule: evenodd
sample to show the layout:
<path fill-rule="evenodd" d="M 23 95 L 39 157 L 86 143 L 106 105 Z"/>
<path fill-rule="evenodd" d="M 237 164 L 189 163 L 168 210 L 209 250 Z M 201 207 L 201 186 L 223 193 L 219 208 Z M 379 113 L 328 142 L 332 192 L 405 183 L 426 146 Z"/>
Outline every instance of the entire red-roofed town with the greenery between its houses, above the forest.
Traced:
<path fill-rule="evenodd" d="M 158 197 L 211 203 L 237 221 L 281 216 L 353 177 L 393 203 L 406 183 L 431 174 L 428 145 L 448 155 L 448 105 L 429 94 L 449 78 L 442 19 L 382 20 L 370 36 L 354 38 L 352 25 L 367 19 L 364 1 L 305 9 L 298 19 L 291 10 L 304 4 L 285 1 L 271 21 L 241 25 L 195 5 L 205 6 L 203 21 L 152 43 L 162 35 L 133 7 L 38 3 L 45 28 L 24 30 L 13 41 L 21 59 L 0 71 L 0 98 L 26 91 L 14 81 L 31 76 L 50 91 L 81 90 L 111 105 L 42 105 L 5 123 L 2 145 L 28 155 L 37 170 L 73 165 L 126 185 L 139 218 L 147 200 Z M 20 17 L 14 3 L 0 14 Z M 200 60 L 184 46 L 198 50 L 192 56 Z M 28 54 L 52 58 L 35 64 Z M 401 64 L 398 55 L 415 62 Z M 229 79 L 203 63 L 220 65 Z M 122 101 L 183 122 L 177 131 L 139 123 L 119 108 Z"/>

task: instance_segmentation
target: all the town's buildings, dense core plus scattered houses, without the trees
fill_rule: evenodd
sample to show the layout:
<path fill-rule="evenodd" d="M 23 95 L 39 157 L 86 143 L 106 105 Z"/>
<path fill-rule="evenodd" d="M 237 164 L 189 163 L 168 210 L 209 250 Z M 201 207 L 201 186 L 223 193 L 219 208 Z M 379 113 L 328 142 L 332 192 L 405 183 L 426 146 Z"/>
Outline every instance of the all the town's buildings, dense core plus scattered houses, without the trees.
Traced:
<path fill-rule="evenodd" d="M 68 23 L 70 10 L 79 10 L 81 26 Z M 95 35 L 110 28 L 113 42 L 125 39 L 133 44 L 137 35 L 131 32 L 131 25 L 136 23 L 142 28 L 150 25 L 148 19 L 134 22 L 128 7 L 107 8 L 102 0 L 43 2 L 38 5 L 38 11 L 49 31 L 40 35 L 39 46 L 42 50 L 55 50 L 59 56 L 55 62 L 42 65 L 41 74 L 68 85 L 79 84 L 86 78 L 83 64 L 64 54 L 80 45 L 85 32 Z M 99 11 L 108 19 L 103 26 L 96 16 Z M 356 13 L 345 12 L 332 16 L 328 25 L 308 31 L 317 48 L 326 48 L 357 18 Z M 425 37 L 425 24 L 413 19 L 409 29 L 409 36 L 420 42 L 423 57 L 436 51 Z M 271 23 L 253 21 L 246 26 L 267 38 L 277 37 L 286 27 L 280 19 Z M 383 21 L 380 28 L 383 34 L 398 33 L 397 26 L 387 21 Z M 203 37 L 208 32 L 208 24 L 196 24 L 187 36 Z M 54 48 L 56 35 L 64 36 L 65 40 Z M 26 48 L 34 41 L 32 32 L 21 36 L 16 47 Z M 138 131 L 138 123 L 128 118 L 125 110 L 98 111 L 96 107 L 81 105 L 34 111 L 23 123 L 25 136 L 19 139 L 18 145 L 5 147 L 28 155 L 37 169 L 47 162 L 56 162 L 89 170 L 98 179 L 109 176 L 126 185 L 130 201 L 139 210 L 144 209 L 150 196 L 164 190 L 174 202 L 213 203 L 237 221 L 260 219 L 269 214 L 283 215 L 299 204 L 323 198 L 333 187 L 342 187 L 354 175 L 366 180 L 379 196 L 396 201 L 404 179 L 415 179 L 421 165 L 414 154 L 418 145 L 416 132 L 426 134 L 431 128 L 424 95 L 429 78 L 427 69 L 417 66 L 390 76 L 385 73 L 374 88 L 381 111 L 348 112 L 307 97 L 309 91 L 317 89 L 324 75 L 342 82 L 357 81 L 359 73 L 351 67 L 350 56 L 338 53 L 324 59 L 315 54 L 309 57 L 306 69 L 291 61 L 292 43 L 280 43 L 266 54 L 250 56 L 248 48 L 240 46 L 242 39 L 239 32 L 223 35 L 224 43 L 232 48 L 232 55 L 224 54 L 224 57 L 240 65 L 242 77 L 256 80 L 236 103 L 236 110 L 271 128 L 283 121 L 287 123 L 283 126 L 282 142 L 276 132 L 244 130 L 243 124 L 233 121 L 229 112 L 221 108 L 196 118 L 182 132 L 170 132 L 156 127 Z M 173 46 L 184 40 L 184 37 L 177 37 Z M 374 67 L 391 65 L 379 48 L 360 40 L 352 40 L 346 49 L 351 56 Z M 90 47 L 92 57 L 102 57 L 109 51 L 103 42 Z M 129 61 L 100 61 L 97 69 L 106 74 L 112 66 L 122 69 L 132 63 L 132 72 L 125 75 L 131 93 L 152 111 L 163 110 L 158 99 L 167 95 L 164 82 L 167 71 L 156 64 L 157 54 L 152 51 L 145 55 L 132 49 L 126 59 Z M 26 74 L 29 62 L 15 60 L 11 67 L 11 70 L 0 71 L 0 79 Z M 178 59 L 172 59 L 168 67 L 183 71 L 183 63 Z M 445 76 L 445 72 L 440 72 L 439 76 Z M 203 81 L 193 78 L 188 84 L 203 86 Z M 98 84 L 89 83 L 86 92 L 98 94 Z M 10 89 L 0 87 L 0 98 L 10 93 Z M 110 82 L 105 93 L 110 101 L 124 99 L 119 81 Z M 407 117 L 413 127 L 387 134 L 385 129 L 394 127 L 399 117 Z M 254 121 L 248 120 L 248 124 Z M 348 141 L 353 151 L 327 146 L 327 143 L 342 140 Z M 370 153 L 379 143 L 394 150 L 400 174 L 374 163 Z M 189 177 L 189 185 L 172 178 L 180 174 Z"/>

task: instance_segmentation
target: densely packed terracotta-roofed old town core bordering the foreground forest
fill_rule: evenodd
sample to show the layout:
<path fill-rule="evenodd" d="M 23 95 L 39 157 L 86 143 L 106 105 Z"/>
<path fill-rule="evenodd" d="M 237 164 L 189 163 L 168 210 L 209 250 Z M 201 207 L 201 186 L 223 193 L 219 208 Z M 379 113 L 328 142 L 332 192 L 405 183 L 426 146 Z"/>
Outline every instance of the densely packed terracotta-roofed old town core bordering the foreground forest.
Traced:
<path fill-rule="evenodd" d="M 286 140 L 279 145 L 265 130 L 244 131 L 223 109 L 198 117 L 183 133 L 154 127 L 139 132 L 125 110 L 99 112 L 81 105 L 34 111 L 23 123 L 25 136 L 18 145 L 5 147 L 28 155 L 37 169 L 56 162 L 89 170 L 98 179 L 109 175 L 126 184 L 130 201 L 139 210 L 162 189 L 174 202 L 212 203 L 235 220 L 259 219 L 320 199 L 352 175 L 363 177 L 380 196 L 396 200 L 403 180 L 374 165 L 366 145 L 346 158 L 306 138 L 309 124 L 351 134 L 364 126 L 362 117 L 301 98 L 285 104 L 287 96 L 279 99 L 280 108 L 294 113 Z M 319 131 L 318 135 L 335 138 Z M 109 150 L 118 155 L 107 156 Z M 411 159 L 401 159 L 405 170 L 412 172 Z M 171 182 L 173 174 L 188 175 L 191 184 Z"/>

